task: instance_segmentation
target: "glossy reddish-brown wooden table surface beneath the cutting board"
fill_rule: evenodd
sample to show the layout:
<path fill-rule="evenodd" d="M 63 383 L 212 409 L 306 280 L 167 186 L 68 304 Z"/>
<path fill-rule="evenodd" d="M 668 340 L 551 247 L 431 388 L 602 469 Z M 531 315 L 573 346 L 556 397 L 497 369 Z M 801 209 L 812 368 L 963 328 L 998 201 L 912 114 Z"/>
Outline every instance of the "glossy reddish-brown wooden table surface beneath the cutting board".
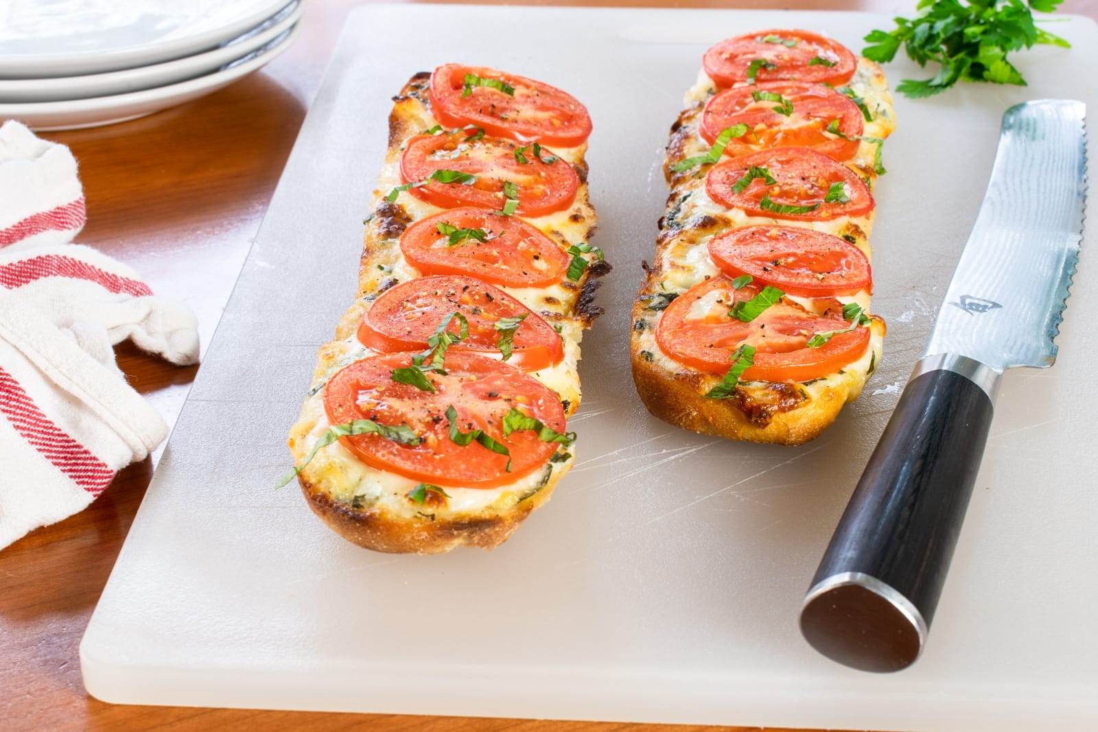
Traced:
<path fill-rule="evenodd" d="M 132 264 L 157 292 L 186 299 L 200 318 L 203 344 L 213 334 L 259 227 L 343 19 L 358 4 L 349 0 L 307 2 L 296 44 L 260 74 L 142 120 L 46 135 L 69 145 L 80 162 L 88 201 L 88 225 L 80 241 Z M 910 14 L 915 0 L 573 0 L 529 4 L 778 7 Z M 1098 0 L 1068 0 L 1064 10 L 1098 19 Z M 120 346 L 117 354 L 130 382 L 169 423 L 173 421 L 197 367 L 171 367 L 128 345 Z M 131 465 L 87 510 L 0 551 L 0 728 L 209 730 L 256 725 L 264 730 L 604 732 L 638 727 L 131 707 L 92 699 L 80 680 L 77 649 L 153 466 L 154 459 Z"/>

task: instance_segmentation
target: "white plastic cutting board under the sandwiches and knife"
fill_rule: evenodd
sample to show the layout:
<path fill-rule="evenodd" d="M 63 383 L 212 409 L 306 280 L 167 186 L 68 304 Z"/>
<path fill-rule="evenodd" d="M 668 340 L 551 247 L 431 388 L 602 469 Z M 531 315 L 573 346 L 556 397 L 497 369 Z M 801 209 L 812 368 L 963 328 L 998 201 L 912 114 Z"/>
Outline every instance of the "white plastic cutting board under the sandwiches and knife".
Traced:
<path fill-rule="evenodd" d="M 923 657 L 876 676 L 817 655 L 797 611 L 929 331 L 983 196 L 999 116 L 1075 97 L 1098 119 L 1098 27 L 1017 63 L 1028 88 L 897 99 L 878 183 L 885 360 L 799 448 L 647 415 L 628 304 L 654 248 L 668 127 L 702 53 L 772 26 L 860 48 L 860 13 L 369 7 L 354 12 L 81 645 L 101 699 L 889 730 L 1098 729 L 1093 228 L 1050 371 L 1007 376 Z M 407 29 L 415 29 L 414 43 Z M 355 293 L 390 97 L 448 61 L 559 85 L 594 119 L 595 243 L 614 263 L 584 339 L 579 463 L 500 549 L 358 549 L 292 486 L 285 432 Z M 918 72 L 887 67 L 895 85 Z M 1091 156 L 1094 157 L 1094 156 Z M 1098 205 L 1091 191 L 1094 205 Z"/>

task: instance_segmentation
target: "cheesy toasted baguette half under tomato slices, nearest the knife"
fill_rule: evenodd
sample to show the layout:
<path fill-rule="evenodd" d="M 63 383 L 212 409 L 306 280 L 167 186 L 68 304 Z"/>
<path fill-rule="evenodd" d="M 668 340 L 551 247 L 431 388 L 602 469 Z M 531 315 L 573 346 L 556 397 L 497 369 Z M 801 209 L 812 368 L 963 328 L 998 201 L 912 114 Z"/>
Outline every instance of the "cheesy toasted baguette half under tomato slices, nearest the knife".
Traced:
<path fill-rule="evenodd" d="M 864 136 L 884 140 L 896 122 L 881 67 L 860 59 L 850 88 L 874 116 L 873 122 L 865 122 Z M 656 328 L 669 297 L 719 273 L 706 250 L 714 235 L 747 225 L 807 226 L 842 236 L 870 256 L 874 213 L 811 223 L 750 217 L 708 198 L 704 170 L 673 171 L 672 166 L 680 160 L 708 151 L 698 126 L 705 104 L 716 91 L 713 80 L 701 72 L 686 94 L 686 109 L 671 127 L 664 160 L 671 194 L 658 224 L 656 258 L 645 264 L 646 277 L 632 308 L 632 378 L 648 410 L 672 425 L 733 440 L 800 444 L 824 431 L 842 406 L 861 394 L 881 362 L 884 320 L 875 317 L 871 324 L 865 354 L 836 373 L 808 382 L 740 382 L 730 398 L 721 399 L 705 396 L 721 376 L 696 371 L 664 354 L 656 341 Z M 881 144 L 863 139 L 855 157 L 847 162 L 871 189 L 877 177 Z M 845 300 L 858 301 L 869 312 L 869 293 Z"/>

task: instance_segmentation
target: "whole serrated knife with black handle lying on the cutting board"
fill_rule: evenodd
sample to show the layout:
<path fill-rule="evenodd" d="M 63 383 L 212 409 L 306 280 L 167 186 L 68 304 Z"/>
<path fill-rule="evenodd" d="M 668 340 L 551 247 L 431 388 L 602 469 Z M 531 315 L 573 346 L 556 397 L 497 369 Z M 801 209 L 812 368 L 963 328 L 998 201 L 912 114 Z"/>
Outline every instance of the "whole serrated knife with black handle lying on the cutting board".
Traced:
<path fill-rule="evenodd" d="M 999 379 L 1052 365 L 1086 199 L 1082 102 L 1012 106 L 976 224 L 922 359 L 805 597 L 817 651 L 907 667 L 927 642 L 987 441 Z"/>

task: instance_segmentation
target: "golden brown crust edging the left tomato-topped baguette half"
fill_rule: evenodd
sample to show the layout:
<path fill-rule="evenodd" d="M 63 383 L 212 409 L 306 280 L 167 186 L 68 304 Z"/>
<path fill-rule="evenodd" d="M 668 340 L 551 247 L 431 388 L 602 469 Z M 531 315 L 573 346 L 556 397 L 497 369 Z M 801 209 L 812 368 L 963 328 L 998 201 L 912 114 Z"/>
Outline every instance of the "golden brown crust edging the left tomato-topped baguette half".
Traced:
<path fill-rule="evenodd" d="M 391 167 L 397 160 L 404 142 L 412 135 L 421 134 L 432 126 L 427 87 L 429 74 L 417 74 L 393 98 L 394 105 L 389 117 L 389 150 L 386 166 Z M 580 149 L 582 153 L 582 148 Z M 582 157 L 574 168 L 580 176 L 581 185 L 576 202 L 568 212 L 569 230 L 585 233 L 587 240 L 596 227 L 595 212 L 587 200 L 586 164 Z M 359 263 L 359 296 L 344 313 L 336 326 L 336 339 L 324 345 L 320 352 L 320 363 L 314 374 L 313 395 L 311 402 L 302 410 L 302 417 L 291 429 L 290 448 L 300 464 L 317 440 L 317 433 L 326 428 L 327 423 L 317 417 L 315 394 L 327 376 L 337 367 L 346 363 L 348 358 L 347 339 L 352 339 L 362 314 L 369 309 L 373 300 L 382 292 L 399 282 L 417 277 L 407 266 L 399 267 L 401 260 L 399 239 L 401 234 L 416 218 L 424 215 L 422 204 L 400 196 L 395 202 L 389 202 L 383 196 L 399 181 L 383 180 L 374 191 L 373 211 L 366 222 L 363 250 Z M 421 213 L 415 214 L 405 204 L 419 206 Z M 563 226 L 561 226 L 563 228 Z M 551 228 L 545 232 L 562 246 L 569 246 L 569 238 Z M 574 233 L 573 233 L 574 237 Z M 586 328 L 602 312 L 594 304 L 594 292 L 598 282 L 596 278 L 609 271 L 609 264 L 592 261 L 585 275 L 579 282 L 562 282 L 560 289 L 550 296 L 545 293 L 535 309 L 553 324 L 572 324 Z M 560 312 L 563 311 L 563 312 Z M 578 329 L 578 328 L 576 328 Z M 578 340 L 578 338 L 576 338 Z M 356 358 L 354 353 L 351 359 Z M 358 358 L 361 358 L 360 356 Z M 571 399 L 565 399 L 565 415 L 571 415 L 579 406 L 579 391 Z M 336 450 L 338 444 L 325 448 L 324 451 Z M 324 452 L 322 452 L 324 454 Z M 562 462 L 553 462 L 544 477 L 525 480 L 516 486 L 520 489 L 505 491 L 492 494 L 484 505 L 474 500 L 472 504 L 457 499 L 448 499 L 441 495 L 428 493 L 424 505 L 415 504 L 408 496 L 410 486 L 389 486 L 384 491 L 374 492 L 370 497 L 340 493 L 335 488 L 340 471 L 318 468 L 320 459 L 304 466 L 298 475 L 303 495 L 310 508 L 333 531 L 348 541 L 380 552 L 439 554 L 457 547 L 470 545 L 492 549 L 506 541 L 511 533 L 536 508 L 545 504 L 556 484 L 568 472 L 573 458 L 560 450 L 556 455 Z M 352 459 L 348 455 L 345 459 Z M 359 463 L 360 465 L 360 463 Z M 332 477 L 335 474 L 336 477 Z M 404 478 L 397 478 L 403 481 Z M 414 485 L 414 482 L 410 482 Z M 450 493 L 473 491 L 471 488 L 450 489 Z M 467 496 L 468 499 L 468 496 Z M 475 507 L 471 507 L 475 506 Z"/>

